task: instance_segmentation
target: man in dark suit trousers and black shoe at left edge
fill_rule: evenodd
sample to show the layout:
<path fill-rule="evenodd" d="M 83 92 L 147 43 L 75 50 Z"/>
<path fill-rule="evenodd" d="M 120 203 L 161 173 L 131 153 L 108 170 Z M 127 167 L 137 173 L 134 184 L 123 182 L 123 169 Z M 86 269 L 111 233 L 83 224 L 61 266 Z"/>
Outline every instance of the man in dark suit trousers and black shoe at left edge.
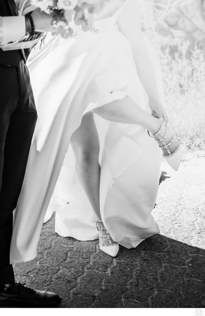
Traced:
<path fill-rule="evenodd" d="M 16 0 L 22 4 L 24 0 Z M 0 45 L 49 30 L 51 17 L 27 1 L 18 16 L 14 0 L 0 0 Z M 29 289 L 15 282 L 9 261 L 16 207 L 37 113 L 22 50 L 0 48 L 0 307 L 25 305 L 53 307 L 62 299 L 55 293 Z"/>

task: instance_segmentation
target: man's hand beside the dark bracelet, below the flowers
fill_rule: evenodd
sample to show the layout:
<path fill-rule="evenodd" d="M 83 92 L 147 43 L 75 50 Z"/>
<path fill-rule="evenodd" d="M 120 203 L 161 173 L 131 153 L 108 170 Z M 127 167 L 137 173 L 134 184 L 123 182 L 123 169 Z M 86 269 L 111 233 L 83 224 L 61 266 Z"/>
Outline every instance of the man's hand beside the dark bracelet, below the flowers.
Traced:
<path fill-rule="evenodd" d="M 31 16 L 36 32 L 49 32 L 51 30 L 52 16 L 41 11 L 39 8 L 33 10 Z"/>

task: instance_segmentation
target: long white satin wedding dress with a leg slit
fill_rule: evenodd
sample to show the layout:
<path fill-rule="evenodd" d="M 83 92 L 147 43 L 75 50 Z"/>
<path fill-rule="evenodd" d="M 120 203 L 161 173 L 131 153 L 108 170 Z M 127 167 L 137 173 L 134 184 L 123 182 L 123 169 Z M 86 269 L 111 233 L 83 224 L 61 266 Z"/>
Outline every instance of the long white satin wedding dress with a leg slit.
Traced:
<path fill-rule="evenodd" d="M 107 9 L 114 10 L 115 4 L 116 0 L 111 1 Z M 80 32 L 69 40 L 55 36 L 32 50 L 27 66 L 38 120 L 14 215 L 11 263 L 35 258 L 43 221 L 54 210 L 59 235 L 98 238 L 92 222 L 96 216 L 75 173 L 70 137 L 85 112 L 127 95 L 150 113 L 130 44 L 117 24 L 121 10 L 96 21 L 98 33 Z M 159 58 L 144 40 L 164 103 Z M 95 119 L 102 220 L 113 240 L 136 247 L 159 233 L 151 212 L 159 186 L 161 150 L 140 126 L 109 122 L 97 115 Z"/>

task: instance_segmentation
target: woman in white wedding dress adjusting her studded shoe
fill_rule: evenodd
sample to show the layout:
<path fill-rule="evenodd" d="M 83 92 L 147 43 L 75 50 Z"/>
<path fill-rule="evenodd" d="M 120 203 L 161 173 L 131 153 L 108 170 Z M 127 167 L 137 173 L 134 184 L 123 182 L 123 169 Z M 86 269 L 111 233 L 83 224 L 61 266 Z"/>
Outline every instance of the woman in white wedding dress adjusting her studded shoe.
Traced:
<path fill-rule="evenodd" d="M 94 27 L 70 40 L 55 36 L 28 59 L 38 121 L 12 263 L 36 256 L 53 210 L 58 234 L 99 238 L 113 257 L 119 244 L 136 247 L 159 233 L 151 211 L 161 150 L 175 170 L 181 155 L 167 126 L 159 58 L 141 32 L 137 0 L 110 1 Z"/>

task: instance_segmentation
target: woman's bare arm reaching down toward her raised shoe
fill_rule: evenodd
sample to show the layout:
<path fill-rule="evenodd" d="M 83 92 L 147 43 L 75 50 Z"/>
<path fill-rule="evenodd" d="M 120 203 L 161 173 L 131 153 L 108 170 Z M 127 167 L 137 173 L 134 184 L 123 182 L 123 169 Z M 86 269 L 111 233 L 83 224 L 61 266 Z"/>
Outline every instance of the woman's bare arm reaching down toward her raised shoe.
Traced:
<path fill-rule="evenodd" d="M 118 24 L 121 33 L 130 42 L 138 76 L 149 97 L 149 106 L 152 111 L 158 112 L 159 117 L 162 116 L 165 119 L 166 112 L 160 102 L 153 67 L 143 40 L 137 0 L 127 1 L 118 17 Z"/>

